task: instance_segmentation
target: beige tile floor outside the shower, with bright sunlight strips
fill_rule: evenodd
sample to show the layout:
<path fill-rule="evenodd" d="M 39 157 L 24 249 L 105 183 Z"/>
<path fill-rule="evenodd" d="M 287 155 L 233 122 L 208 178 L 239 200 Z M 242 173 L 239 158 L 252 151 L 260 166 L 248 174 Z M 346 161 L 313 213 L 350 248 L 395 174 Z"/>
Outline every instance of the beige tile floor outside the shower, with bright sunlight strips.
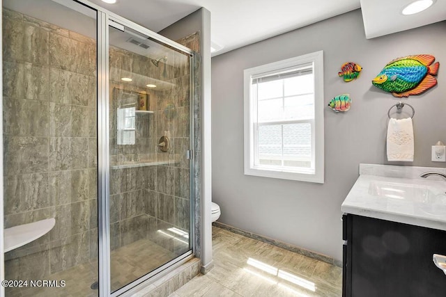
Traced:
<path fill-rule="evenodd" d="M 170 297 L 341 296 L 340 267 L 213 227 L 214 268 Z"/>

